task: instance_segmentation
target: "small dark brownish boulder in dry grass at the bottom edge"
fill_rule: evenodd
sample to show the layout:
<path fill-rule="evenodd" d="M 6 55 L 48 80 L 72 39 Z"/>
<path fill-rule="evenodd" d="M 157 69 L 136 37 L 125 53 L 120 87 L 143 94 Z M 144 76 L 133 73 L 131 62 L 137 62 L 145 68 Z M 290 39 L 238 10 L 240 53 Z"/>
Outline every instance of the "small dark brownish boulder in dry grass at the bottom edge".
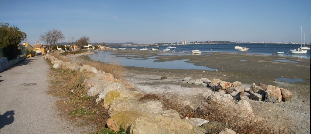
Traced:
<path fill-rule="evenodd" d="M 204 123 L 200 126 L 205 130 L 206 133 L 217 132 L 218 130 L 225 129 L 227 125 L 223 122 L 210 121 L 208 123 Z"/>

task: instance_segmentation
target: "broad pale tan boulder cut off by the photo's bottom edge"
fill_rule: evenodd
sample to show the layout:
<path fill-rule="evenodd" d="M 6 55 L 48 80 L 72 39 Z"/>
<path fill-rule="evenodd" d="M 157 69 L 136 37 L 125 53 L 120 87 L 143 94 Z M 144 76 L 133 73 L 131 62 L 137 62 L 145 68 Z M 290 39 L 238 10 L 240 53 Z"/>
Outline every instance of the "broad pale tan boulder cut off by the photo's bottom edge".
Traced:
<path fill-rule="evenodd" d="M 131 134 L 202 133 L 190 123 L 164 116 L 139 117 L 131 125 Z"/>

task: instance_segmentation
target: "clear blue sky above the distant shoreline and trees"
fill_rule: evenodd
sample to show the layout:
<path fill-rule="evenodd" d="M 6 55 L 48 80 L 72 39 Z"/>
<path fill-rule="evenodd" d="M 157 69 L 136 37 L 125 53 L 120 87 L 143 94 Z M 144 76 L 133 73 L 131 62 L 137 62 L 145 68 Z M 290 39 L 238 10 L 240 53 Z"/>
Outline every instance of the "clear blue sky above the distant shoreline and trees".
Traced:
<path fill-rule="evenodd" d="M 2 1 L 0 22 L 17 25 L 30 44 L 58 29 L 91 42 L 155 43 L 182 40 L 310 42 L 311 1 Z"/>

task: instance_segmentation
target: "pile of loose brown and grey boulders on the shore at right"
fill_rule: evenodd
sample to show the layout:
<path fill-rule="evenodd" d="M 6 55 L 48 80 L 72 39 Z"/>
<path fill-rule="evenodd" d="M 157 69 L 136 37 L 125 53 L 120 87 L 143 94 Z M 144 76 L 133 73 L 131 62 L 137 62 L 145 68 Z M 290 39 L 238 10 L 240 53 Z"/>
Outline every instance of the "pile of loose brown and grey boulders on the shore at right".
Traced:
<path fill-rule="evenodd" d="M 225 94 L 231 95 L 234 100 L 253 99 L 257 101 L 277 103 L 281 101 L 289 101 L 293 96 L 293 93 L 289 90 L 262 83 L 259 83 L 258 85 L 253 83 L 250 88 L 244 88 L 239 81 L 230 83 L 219 79 L 208 80 L 207 78 L 192 80 L 191 77 L 184 78 L 183 83 L 210 87 L 211 90 L 218 92 L 222 90 L 225 91 Z M 221 93 L 223 93 L 222 91 Z"/>

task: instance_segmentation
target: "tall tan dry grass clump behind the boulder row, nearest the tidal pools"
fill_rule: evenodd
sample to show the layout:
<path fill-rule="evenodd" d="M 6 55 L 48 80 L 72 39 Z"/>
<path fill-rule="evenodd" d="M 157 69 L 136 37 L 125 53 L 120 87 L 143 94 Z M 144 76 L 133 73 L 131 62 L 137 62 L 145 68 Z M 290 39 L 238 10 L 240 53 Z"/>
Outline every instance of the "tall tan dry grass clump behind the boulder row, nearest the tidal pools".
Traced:
<path fill-rule="evenodd" d="M 81 64 L 90 65 L 91 67 L 95 67 L 97 70 L 102 70 L 106 73 L 111 73 L 114 78 L 123 78 L 124 67 L 118 65 L 118 62 L 114 62 L 111 64 L 99 61 L 84 61 Z"/>

